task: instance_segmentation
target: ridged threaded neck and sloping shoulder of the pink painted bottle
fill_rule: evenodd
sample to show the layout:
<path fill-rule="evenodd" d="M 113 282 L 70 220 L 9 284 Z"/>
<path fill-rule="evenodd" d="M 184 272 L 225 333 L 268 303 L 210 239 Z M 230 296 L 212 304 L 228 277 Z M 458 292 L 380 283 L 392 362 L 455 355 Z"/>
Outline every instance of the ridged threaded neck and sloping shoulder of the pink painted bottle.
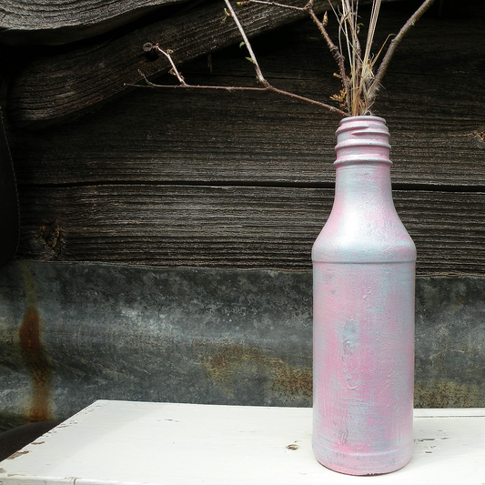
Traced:
<path fill-rule="evenodd" d="M 337 136 L 335 200 L 313 246 L 313 261 L 414 264 L 416 248 L 392 203 L 389 132 L 384 120 L 346 118 Z"/>

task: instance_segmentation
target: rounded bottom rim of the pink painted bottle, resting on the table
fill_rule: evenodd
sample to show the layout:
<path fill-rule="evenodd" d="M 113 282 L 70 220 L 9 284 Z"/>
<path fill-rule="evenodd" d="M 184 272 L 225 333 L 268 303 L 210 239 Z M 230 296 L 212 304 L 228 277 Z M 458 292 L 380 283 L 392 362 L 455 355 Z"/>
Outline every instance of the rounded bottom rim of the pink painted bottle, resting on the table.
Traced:
<path fill-rule="evenodd" d="M 405 467 L 412 455 L 412 444 L 405 449 L 383 453 L 348 454 L 341 451 L 313 447 L 318 462 L 329 470 L 346 475 L 383 475 Z"/>

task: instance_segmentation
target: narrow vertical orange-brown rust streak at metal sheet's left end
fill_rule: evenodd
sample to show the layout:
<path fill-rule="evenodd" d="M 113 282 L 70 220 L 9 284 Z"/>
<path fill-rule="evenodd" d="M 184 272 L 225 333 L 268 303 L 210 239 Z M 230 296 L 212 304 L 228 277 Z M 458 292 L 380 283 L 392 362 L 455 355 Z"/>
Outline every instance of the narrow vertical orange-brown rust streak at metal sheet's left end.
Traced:
<path fill-rule="evenodd" d="M 42 324 L 37 310 L 35 282 L 30 269 L 23 265 L 25 284 L 25 314 L 19 329 L 20 349 L 25 368 L 32 379 L 32 395 L 27 420 L 52 419 L 52 367 L 42 343 Z"/>

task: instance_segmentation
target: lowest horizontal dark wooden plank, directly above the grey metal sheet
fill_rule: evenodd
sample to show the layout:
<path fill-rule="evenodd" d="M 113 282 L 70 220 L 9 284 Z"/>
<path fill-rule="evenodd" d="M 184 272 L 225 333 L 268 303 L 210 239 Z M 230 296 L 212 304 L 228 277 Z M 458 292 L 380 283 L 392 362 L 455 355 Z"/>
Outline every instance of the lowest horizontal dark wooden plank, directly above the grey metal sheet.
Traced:
<path fill-rule="evenodd" d="M 331 189 L 30 187 L 19 257 L 154 267 L 309 269 Z M 485 193 L 395 191 L 419 274 L 485 272 Z"/>

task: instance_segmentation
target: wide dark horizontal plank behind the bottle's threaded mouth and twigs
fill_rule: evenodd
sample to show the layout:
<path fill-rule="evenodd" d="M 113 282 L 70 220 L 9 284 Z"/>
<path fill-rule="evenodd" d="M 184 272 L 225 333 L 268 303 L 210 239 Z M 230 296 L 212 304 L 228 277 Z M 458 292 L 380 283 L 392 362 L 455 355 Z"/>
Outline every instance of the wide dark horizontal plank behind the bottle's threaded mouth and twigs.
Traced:
<path fill-rule="evenodd" d="M 395 31 L 410 11 L 396 5 L 382 32 Z M 442 44 L 444 33 L 453 45 Z M 401 45 L 376 106 L 389 125 L 398 187 L 485 187 L 481 37 L 480 23 L 465 17 L 430 17 Z M 254 46 L 276 86 L 323 101 L 337 92 L 333 60 L 311 23 Z M 205 57 L 182 70 L 193 84 L 248 85 L 254 73 L 243 57 L 235 46 L 211 56 L 212 72 Z M 22 184 L 328 187 L 337 126 L 336 116 L 268 94 L 138 89 L 74 123 L 14 131 L 15 165 Z"/>

